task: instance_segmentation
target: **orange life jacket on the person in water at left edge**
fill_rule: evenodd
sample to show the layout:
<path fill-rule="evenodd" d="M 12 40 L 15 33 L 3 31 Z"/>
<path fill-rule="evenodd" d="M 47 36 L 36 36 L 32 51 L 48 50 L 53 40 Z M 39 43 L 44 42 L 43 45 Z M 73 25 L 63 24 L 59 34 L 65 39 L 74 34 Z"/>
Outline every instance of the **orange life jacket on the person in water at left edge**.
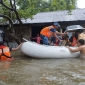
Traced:
<path fill-rule="evenodd" d="M 7 46 L 0 46 L 0 60 L 11 60 L 10 49 Z"/>

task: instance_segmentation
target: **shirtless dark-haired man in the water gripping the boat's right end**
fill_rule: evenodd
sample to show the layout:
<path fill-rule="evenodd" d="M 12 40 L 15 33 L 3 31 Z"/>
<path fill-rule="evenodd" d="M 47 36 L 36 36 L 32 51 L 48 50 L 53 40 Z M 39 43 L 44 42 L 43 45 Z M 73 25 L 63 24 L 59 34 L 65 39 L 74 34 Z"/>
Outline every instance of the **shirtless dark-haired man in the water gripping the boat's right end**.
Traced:
<path fill-rule="evenodd" d="M 80 57 L 85 59 L 85 41 L 83 39 L 78 40 L 78 47 L 75 49 L 70 48 L 69 46 L 66 46 L 71 52 L 79 52 L 80 51 Z"/>

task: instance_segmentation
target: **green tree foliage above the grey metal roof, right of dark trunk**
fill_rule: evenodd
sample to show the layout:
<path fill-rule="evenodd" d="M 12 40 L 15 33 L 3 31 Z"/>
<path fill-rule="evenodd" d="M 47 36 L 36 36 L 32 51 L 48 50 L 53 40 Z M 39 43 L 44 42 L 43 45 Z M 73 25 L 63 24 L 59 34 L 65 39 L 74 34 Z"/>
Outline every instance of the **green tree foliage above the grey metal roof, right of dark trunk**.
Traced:
<path fill-rule="evenodd" d="M 21 17 L 32 17 L 38 12 L 68 10 L 76 8 L 76 0 L 17 0 Z"/>

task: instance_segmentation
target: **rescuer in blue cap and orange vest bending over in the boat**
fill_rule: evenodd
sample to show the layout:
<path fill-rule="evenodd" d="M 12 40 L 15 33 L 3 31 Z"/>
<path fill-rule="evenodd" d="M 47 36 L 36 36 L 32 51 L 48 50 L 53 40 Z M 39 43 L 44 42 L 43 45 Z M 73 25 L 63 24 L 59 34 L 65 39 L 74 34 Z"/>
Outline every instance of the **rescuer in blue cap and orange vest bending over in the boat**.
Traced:
<path fill-rule="evenodd" d="M 60 25 L 57 22 L 55 22 L 52 26 L 45 27 L 40 31 L 40 36 L 41 36 L 43 44 L 49 45 L 50 44 L 49 39 L 52 36 L 54 36 L 56 40 L 59 40 L 60 42 L 62 41 L 61 39 L 58 38 L 56 34 L 62 35 L 66 33 L 60 33 L 56 31 L 58 28 L 60 28 Z"/>

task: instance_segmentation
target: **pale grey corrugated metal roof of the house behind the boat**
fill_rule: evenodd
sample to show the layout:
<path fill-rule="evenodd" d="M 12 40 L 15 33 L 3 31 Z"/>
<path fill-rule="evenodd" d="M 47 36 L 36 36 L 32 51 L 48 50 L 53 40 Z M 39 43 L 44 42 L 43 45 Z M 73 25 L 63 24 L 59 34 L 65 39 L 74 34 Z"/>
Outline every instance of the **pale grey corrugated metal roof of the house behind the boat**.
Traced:
<path fill-rule="evenodd" d="M 64 22 L 64 21 L 82 21 L 85 20 L 85 9 L 72 10 L 71 14 L 65 11 L 41 12 L 33 16 L 31 20 L 22 20 L 23 23 L 48 23 L 48 22 Z"/>

